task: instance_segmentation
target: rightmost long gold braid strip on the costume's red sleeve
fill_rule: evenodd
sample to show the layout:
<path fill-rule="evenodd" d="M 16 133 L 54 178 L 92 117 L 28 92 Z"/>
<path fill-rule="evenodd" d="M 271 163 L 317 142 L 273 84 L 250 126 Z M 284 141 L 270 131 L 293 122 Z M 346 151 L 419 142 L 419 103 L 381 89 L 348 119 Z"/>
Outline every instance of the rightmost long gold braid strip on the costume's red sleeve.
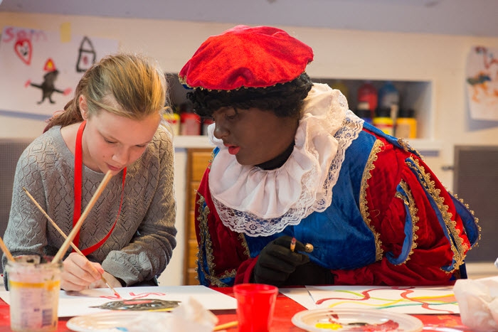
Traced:
<path fill-rule="evenodd" d="M 453 215 L 448 212 L 449 207 L 445 204 L 445 198 L 440 196 L 441 190 L 435 187 L 435 182 L 430 179 L 430 173 L 425 173 L 425 168 L 420 165 L 418 160 L 413 159 L 412 157 L 407 159 L 406 164 L 415 171 L 415 174 L 418 175 L 420 180 L 420 184 L 424 186 L 425 190 L 433 198 L 436 205 L 438 205 L 438 209 L 443 217 L 446 229 L 450 234 L 449 241 L 453 252 L 453 259 L 455 260 L 452 269 L 453 271 L 463 264 L 465 252 L 467 252 L 470 248 L 467 244 L 463 243 L 462 237 L 460 237 L 460 230 L 457 229 L 457 223 L 455 220 L 452 220 Z M 413 164 L 415 164 L 415 166 Z M 451 238 L 455 240 L 455 243 L 452 242 Z"/>

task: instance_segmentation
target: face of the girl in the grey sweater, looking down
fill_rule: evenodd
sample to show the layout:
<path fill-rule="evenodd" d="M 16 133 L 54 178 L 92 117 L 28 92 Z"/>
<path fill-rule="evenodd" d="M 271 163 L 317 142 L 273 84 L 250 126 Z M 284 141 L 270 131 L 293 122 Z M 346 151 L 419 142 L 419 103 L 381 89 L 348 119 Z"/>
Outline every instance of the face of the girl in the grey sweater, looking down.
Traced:
<path fill-rule="evenodd" d="M 144 119 L 128 119 L 103 109 L 87 119 L 83 132 L 83 164 L 93 171 L 113 175 L 139 159 L 152 141 L 161 122 L 159 112 Z"/>

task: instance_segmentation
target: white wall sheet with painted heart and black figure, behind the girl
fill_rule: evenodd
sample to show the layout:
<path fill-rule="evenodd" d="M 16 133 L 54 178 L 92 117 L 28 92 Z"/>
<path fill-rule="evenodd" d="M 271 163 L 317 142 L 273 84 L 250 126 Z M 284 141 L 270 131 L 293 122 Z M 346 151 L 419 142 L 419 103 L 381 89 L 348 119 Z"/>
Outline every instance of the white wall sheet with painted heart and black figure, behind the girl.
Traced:
<path fill-rule="evenodd" d="M 117 48 L 111 39 L 6 26 L 0 36 L 0 110 L 50 117 L 73 98 L 85 70 Z"/>

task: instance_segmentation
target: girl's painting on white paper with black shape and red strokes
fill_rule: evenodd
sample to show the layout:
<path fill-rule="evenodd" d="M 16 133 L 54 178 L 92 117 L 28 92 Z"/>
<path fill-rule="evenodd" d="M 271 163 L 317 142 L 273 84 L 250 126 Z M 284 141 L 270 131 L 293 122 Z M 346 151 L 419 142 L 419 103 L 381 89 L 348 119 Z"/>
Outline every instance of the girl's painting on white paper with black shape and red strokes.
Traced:
<path fill-rule="evenodd" d="M 107 288 L 84 291 L 60 291 L 58 316 L 71 317 L 110 311 L 170 311 L 189 298 L 196 299 L 204 309 L 236 309 L 237 301 L 205 286 L 121 287 L 119 296 Z M 9 291 L 0 297 L 10 304 Z"/>

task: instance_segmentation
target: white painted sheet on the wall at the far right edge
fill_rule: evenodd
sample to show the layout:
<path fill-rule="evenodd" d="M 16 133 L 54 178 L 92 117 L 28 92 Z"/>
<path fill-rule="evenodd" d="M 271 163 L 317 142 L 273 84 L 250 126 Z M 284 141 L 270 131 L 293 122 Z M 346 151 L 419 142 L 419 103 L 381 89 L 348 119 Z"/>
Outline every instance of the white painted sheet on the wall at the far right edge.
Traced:
<path fill-rule="evenodd" d="M 498 48 L 473 47 L 466 75 L 470 117 L 498 121 Z"/>

